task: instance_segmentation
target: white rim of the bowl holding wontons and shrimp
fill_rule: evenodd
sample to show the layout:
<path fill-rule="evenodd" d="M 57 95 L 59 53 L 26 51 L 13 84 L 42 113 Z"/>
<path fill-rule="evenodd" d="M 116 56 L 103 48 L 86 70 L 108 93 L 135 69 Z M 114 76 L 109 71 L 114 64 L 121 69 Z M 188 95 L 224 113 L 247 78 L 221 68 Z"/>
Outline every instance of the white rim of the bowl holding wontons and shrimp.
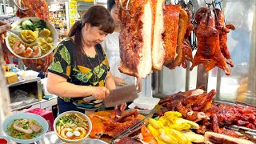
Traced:
<path fill-rule="evenodd" d="M 25 21 L 27 19 L 31 19 L 33 22 L 38 22 L 39 20 L 41 20 L 41 18 L 37 18 L 37 17 L 21 18 L 18 21 L 15 21 L 13 24 L 11 24 L 12 29 L 14 29 L 21 22 L 23 22 L 23 21 Z M 9 44 L 9 40 L 8 40 L 8 37 L 10 35 L 9 33 L 7 33 L 7 37 L 6 37 L 6 46 L 8 47 L 8 49 L 10 50 L 10 52 L 12 54 L 14 54 L 16 57 L 21 58 L 21 59 L 38 59 L 38 58 L 43 58 L 46 55 L 52 53 L 53 50 L 56 48 L 56 46 L 58 44 L 58 33 L 57 33 L 57 30 L 55 30 L 54 26 L 52 24 L 50 24 L 49 22 L 46 22 L 46 28 L 50 30 L 50 35 L 54 38 L 54 42 L 53 42 L 54 46 L 53 46 L 53 48 L 51 50 L 48 51 L 48 53 L 46 53 L 44 55 L 41 55 L 40 57 L 37 57 L 37 58 L 24 58 L 24 57 L 22 57 L 22 56 L 20 56 L 20 55 L 18 55 L 16 53 L 14 53 L 14 50 L 10 47 L 10 44 Z"/>

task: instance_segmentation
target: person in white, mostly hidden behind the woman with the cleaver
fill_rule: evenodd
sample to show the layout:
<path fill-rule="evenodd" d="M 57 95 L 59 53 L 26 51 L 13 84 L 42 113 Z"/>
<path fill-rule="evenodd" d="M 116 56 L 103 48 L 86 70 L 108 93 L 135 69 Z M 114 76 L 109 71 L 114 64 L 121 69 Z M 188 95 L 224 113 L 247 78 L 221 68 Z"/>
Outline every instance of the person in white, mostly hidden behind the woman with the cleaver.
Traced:
<path fill-rule="evenodd" d="M 120 34 L 120 20 L 118 19 L 118 7 L 114 0 L 107 1 L 107 9 L 110 11 L 110 15 L 114 19 L 114 32 L 108 34 L 102 46 L 106 50 L 106 56 L 110 62 L 110 71 L 114 76 L 114 82 L 116 86 L 125 86 L 135 82 L 134 77 L 126 74 L 122 74 L 118 70 L 120 65 L 120 54 L 119 54 L 119 34 Z"/>

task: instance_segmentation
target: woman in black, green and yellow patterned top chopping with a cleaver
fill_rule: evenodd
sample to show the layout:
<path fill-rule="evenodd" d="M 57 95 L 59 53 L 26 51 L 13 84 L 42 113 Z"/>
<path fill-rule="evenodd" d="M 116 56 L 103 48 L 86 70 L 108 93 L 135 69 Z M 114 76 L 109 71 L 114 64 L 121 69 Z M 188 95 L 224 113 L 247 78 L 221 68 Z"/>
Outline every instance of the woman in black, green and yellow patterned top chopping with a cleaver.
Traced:
<path fill-rule="evenodd" d="M 91 6 L 71 27 L 68 38 L 58 44 L 49 66 L 47 90 L 58 95 L 60 114 L 101 110 L 103 99 L 115 89 L 106 54 L 99 45 L 113 31 L 114 21 L 106 8 Z M 84 101 L 87 96 L 95 100 Z M 124 110 L 126 103 L 119 108 Z"/>

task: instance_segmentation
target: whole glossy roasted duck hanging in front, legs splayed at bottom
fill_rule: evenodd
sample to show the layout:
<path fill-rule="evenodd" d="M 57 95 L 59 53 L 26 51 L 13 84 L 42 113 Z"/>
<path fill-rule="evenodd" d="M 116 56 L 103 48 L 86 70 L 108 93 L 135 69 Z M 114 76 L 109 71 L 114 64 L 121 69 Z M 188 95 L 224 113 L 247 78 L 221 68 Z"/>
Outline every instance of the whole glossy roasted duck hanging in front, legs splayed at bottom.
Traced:
<path fill-rule="evenodd" d="M 207 10 L 206 13 L 202 13 L 202 10 Z M 209 71 L 218 66 L 224 70 L 226 75 L 230 75 L 230 69 L 226 64 L 226 59 L 222 55 L 219 42 L 219 32 L 215 27 L 214 13 L 210 8 L 199 9 L 196 16 L 202 16 L 196 18 L 199 22 L 199 26 L 195 30 L 195 35 L 198 38 L 198 50 L 192 61 L 190 70 L 193 70 L 194 66 L 202 63 L 206 66 L 206 71 Z"/>

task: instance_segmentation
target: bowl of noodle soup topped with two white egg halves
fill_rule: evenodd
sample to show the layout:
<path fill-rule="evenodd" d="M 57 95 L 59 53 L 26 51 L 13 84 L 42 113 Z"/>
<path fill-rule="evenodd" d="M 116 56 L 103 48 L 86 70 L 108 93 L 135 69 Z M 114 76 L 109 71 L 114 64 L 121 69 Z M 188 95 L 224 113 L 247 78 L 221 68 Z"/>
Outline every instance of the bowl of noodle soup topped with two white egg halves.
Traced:
<path fill-rule="evenodd" d="M 83 142 L 91 130 L 90 118 L 78 111 L 66 111 L 54 120 L 54 131 L 63 142 Z"/>

